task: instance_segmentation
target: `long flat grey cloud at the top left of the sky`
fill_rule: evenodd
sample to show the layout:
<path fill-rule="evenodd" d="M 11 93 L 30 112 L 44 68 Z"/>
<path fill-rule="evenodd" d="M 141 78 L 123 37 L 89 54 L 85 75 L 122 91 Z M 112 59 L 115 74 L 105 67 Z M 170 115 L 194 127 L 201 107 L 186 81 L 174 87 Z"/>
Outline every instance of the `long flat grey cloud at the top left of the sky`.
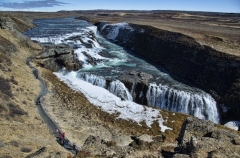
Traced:
<path fill-rule="evenodd" d="M 37 0 L 37 1 L 24 1 L 19 2 L 0 2 L 0 7 L 12 8 L 12 9 L 31 9 L 41 7 L 55 7 L 63 6 L 69 3 L 60 2 L 57 0 Z"/>

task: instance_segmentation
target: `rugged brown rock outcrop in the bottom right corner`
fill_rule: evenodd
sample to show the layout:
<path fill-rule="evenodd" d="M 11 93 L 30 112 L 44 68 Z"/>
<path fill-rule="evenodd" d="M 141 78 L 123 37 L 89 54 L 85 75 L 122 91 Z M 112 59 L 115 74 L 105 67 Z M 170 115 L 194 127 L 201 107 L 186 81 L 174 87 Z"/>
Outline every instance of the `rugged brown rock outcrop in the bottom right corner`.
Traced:
<path fill-rule="evenodd" d="M 195 117 L 186 119 L 179 135 L 181 153 L 192 157 L 239 157 L 239 133 Z"/>

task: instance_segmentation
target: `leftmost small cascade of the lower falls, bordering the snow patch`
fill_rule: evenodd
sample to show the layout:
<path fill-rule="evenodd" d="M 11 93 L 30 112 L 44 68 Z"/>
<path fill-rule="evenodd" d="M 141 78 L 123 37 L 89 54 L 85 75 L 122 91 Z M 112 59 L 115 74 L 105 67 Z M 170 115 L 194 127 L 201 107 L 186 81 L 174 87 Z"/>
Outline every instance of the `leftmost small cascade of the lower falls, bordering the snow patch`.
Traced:
<path fill-rule="evenodd" d="M 106 80 L 102 76 L 97 76 L 90 73 L 79 73 L 78 78 L 95 86 L 106 88 Z"/>

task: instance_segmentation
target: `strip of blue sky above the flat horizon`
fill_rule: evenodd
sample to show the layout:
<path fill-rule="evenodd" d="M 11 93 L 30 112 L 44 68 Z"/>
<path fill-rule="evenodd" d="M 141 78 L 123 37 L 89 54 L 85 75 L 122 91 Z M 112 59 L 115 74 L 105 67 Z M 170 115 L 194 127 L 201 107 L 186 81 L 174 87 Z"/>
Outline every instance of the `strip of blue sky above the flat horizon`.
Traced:
<path fill-rule="evenodd" d="M 0 0 L 0 11 L 187 10 L 240 13 L 240 0 Z"/>

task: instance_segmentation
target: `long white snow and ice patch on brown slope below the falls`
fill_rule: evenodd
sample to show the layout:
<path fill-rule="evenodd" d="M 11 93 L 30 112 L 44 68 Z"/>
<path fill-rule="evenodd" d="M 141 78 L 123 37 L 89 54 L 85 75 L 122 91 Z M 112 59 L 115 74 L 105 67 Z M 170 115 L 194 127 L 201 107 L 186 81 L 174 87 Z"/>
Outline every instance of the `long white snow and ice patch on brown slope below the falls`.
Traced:
<path fill-rule="evenodd" d="M 140 122 L 144 121 L 149 127 L 151 127 L 154 121 L 157 121 L 162 132 L 165 132 L 167 129 L 172 130 L 163 125 L 166 121 L 162 118 L 161 110 L 159 109 L 144 107 L 131 101 L 123 101 L 104 88 L 77 79 L 77 72 L 57 72 L 54 74 L 73 90 L 82 92 L 93 105 L 98 106 L 109 114 L 119 113 L 117 118 L 133 120 L 139 125 L 141 125 Z"/>

